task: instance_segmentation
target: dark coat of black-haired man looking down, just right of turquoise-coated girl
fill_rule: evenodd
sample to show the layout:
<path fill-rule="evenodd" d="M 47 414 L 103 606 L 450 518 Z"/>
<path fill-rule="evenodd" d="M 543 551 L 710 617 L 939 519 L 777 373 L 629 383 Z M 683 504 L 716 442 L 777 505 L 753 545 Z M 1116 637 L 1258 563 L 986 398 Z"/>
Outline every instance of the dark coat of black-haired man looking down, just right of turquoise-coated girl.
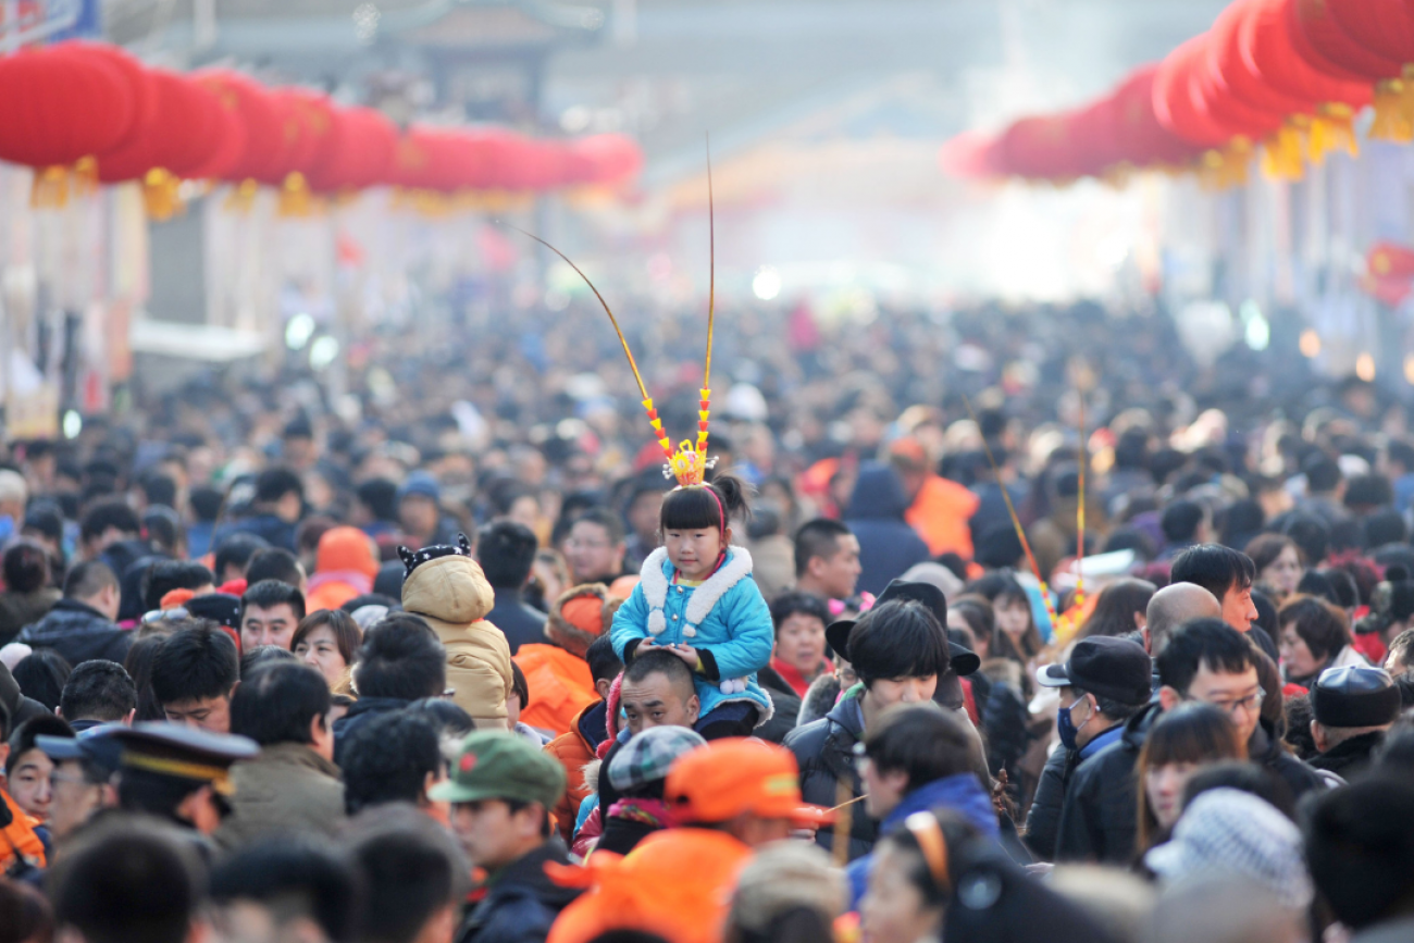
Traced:
<path fill-rule="evenodd" d="M 864 795 L 864 783 L 854 768 L 854 745 L 864 738 L 864 713 L 855 697 L 846 697 L 823 720 L 797 727 L 785 739 L 800 765 L 800 795 L 807 803 L 833 809 L 843 799 L 839 783 L 850 786 L 847 799 Z M 865 855 L 878 838 L 878 826 L 864 812 L 864 803 L 854 803 L 850 816 L 850 861 Z M 834 847 L 834 830 L 820 828 L 816 844 L 826 851 Z"/>

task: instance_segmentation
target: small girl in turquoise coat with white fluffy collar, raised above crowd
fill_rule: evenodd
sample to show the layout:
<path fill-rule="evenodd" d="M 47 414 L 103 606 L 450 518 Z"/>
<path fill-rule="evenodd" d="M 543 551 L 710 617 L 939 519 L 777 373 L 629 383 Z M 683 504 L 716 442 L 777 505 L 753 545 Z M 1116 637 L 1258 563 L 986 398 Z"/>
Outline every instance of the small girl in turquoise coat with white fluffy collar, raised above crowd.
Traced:
<path fill-rule="evenodd" d="M 643 561 L 642 578 L 614 616 L 609 639 L 628 664 L 663 650 L 693 669 L 707 739 L 749 737 L 773 713 L 756 672 L 771 662 L 775 629 L 751 554 L 731 546 L 731 516 L 747 509 L 740 479 L 676 488 L 663 499 L 663 547 Z"/>

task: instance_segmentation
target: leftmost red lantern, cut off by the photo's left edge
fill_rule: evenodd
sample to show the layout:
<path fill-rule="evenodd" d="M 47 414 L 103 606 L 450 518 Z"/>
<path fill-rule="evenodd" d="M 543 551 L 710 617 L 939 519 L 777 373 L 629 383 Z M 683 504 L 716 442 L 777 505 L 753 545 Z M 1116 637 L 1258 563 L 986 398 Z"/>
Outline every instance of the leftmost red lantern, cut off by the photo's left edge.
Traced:
<path fill-rule="evenodd" d="M 74 164 L 123 143 L 139 117 L 130 76 L 62 45 L 0 58 L 0 160 Z"/>

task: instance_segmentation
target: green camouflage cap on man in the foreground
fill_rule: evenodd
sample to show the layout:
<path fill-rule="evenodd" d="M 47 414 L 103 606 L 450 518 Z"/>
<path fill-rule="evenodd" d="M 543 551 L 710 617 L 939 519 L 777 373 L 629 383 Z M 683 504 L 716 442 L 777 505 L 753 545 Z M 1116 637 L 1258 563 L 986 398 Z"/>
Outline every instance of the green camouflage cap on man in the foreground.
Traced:
<path fill-rule="evenodd" d="M 564 795 L 564 766 L 509 731 L 475 731 L 461 741 L 451 779 L 431 789 L 437 802 L 516 799 L 546 809 Z"/>

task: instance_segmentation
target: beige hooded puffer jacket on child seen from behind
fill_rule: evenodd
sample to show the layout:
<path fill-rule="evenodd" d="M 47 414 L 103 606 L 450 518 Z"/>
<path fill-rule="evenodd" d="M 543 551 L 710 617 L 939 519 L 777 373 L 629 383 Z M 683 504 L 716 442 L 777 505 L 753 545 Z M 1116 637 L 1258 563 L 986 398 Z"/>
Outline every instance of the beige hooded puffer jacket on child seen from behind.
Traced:
<path fill-rule="evenodd" d="M 505 727 L 512 691 L 510 646 L 486 622 L 492 605 L 486 575 L 461 554 L 420 563 L 403 581 L 403 608 L 427 619 L 447 646 L 447 686 L 478 728 Z"/>

